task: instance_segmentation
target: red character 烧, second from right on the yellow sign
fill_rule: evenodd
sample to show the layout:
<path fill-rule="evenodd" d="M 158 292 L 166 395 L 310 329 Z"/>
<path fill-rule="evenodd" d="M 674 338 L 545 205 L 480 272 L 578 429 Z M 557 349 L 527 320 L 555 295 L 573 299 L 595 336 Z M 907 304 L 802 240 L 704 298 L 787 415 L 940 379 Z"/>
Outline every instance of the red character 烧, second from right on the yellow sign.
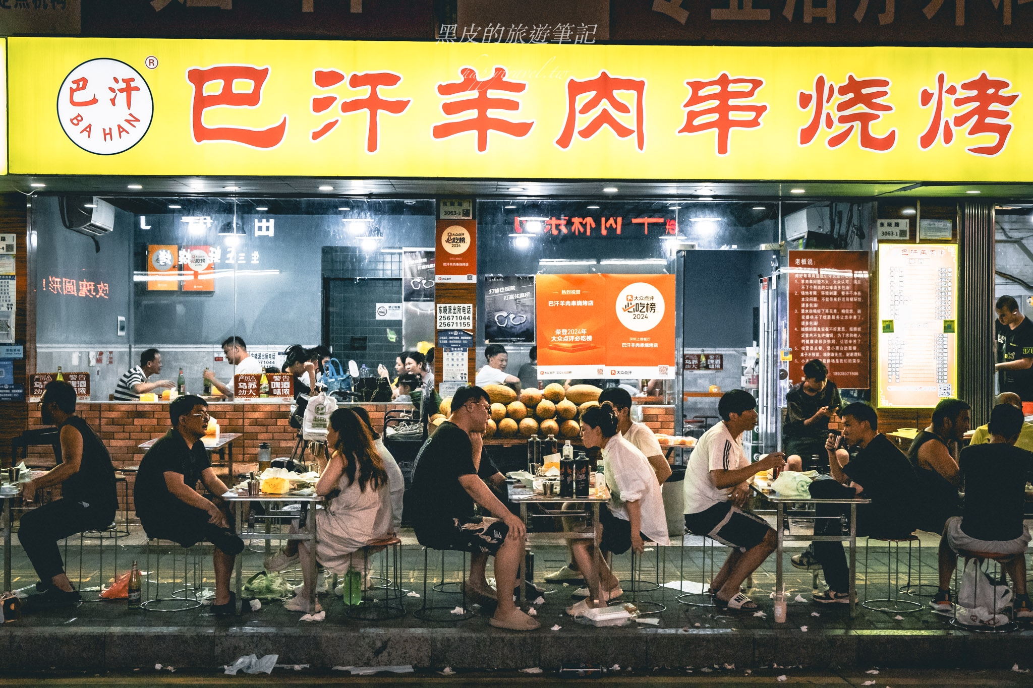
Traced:
<path fill-rule="evenodd" d="M 835 96 L 840 100 L 833 101 Z M 857 78 L 847 74 L 846 81 L 837 89 L 836 84 L 826 80 L 824 74 L 814 79 L 813 91 L 801 91 L 796 105 L 802 110 L 812 110 L 811 121 L 800 129 L 800 144 L 810 145 L 822 128 L 832 131 L 842 127 L 825 139 L 829 149 L 838 149 L 857 131 L 857 145 L 874 153 L 891 151 L 897 142 L 897 130 L 889 129 L 879 136 L 872 131 L 885 112 L 893 112 L 894 106 L 883 102 L 889 97 L 889 79 L 882 77 Z M 835 114 L 834 114 L 835 112 Z"/>

